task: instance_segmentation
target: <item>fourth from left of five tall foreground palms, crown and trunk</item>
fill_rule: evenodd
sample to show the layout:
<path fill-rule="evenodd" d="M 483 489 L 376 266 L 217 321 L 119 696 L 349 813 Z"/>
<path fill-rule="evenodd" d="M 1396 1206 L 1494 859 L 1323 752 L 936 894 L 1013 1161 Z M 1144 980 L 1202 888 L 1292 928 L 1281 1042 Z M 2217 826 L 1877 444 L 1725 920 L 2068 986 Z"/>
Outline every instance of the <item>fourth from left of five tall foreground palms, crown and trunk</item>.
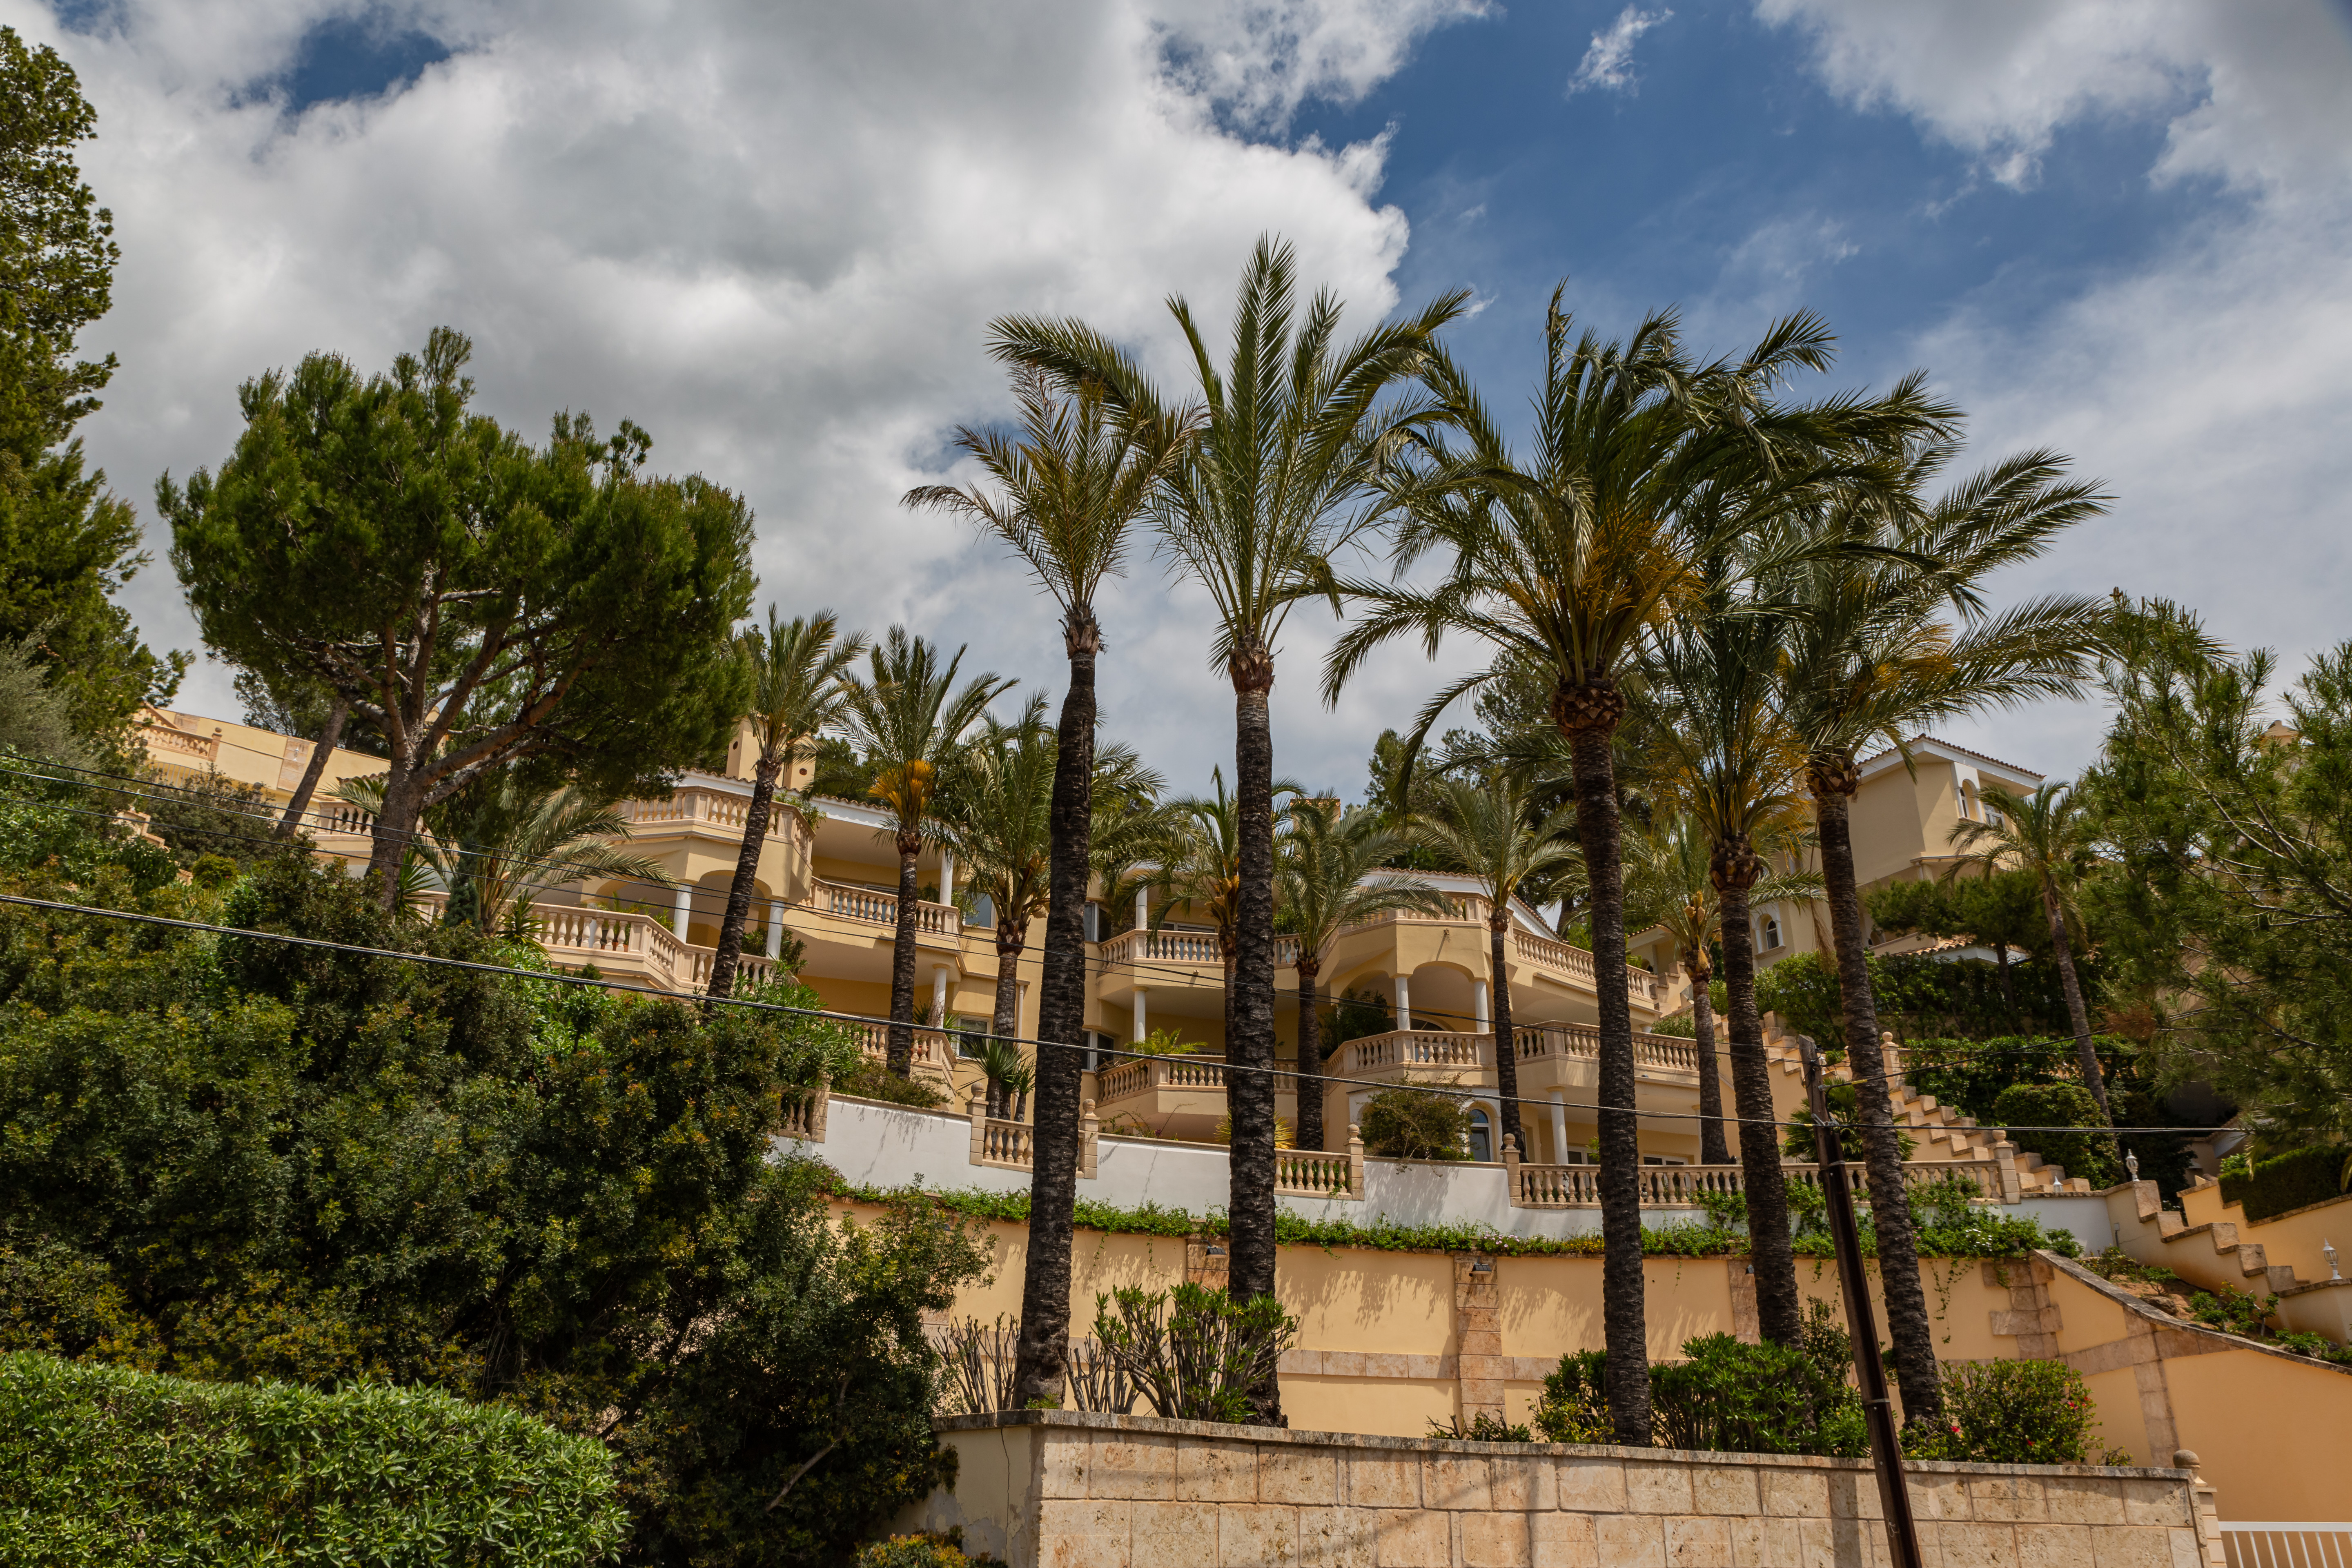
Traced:
<path fill-rule="evenodd" d="M 1766 860 L 1769 851 L 1785 853 L 1795 846 L 1804 818 L 1797 783 L 1804 748 L 1776 705 L 1788 616 L 1771 604 L 1771 578 L 1748 595 L 1733 578 L 1726 559 L 1700 562 L 1698 609 L 1651 630 L 1635 701 L 1649 719 L 1644 729 L 1656 752 L 1658 783 L 1689 813 L 1691 832 L 1708 853 L 1705 884 L 1722 929 L 1726 1044 L 1731 1095 L 1740 1114 L 1757 1328 L 1769 1340 L 1795 1345 L 1804 1300 L 1790 1248 L 1780 1140 L 1771 1126 L 1771 1063 L 1757 1009 L 1750 907 L 1811 898 L 1818 879 L 1795 870 L 1773 877 Z"/>

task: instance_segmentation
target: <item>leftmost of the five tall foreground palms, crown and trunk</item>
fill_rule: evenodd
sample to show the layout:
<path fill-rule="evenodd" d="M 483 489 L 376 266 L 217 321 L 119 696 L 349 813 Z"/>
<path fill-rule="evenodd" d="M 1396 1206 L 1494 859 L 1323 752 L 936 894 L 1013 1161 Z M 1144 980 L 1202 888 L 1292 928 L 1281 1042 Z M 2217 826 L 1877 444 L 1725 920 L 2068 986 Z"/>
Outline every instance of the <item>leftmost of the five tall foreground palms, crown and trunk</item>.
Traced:
<path fill-rule="evenodd" d="M 993 430 L 955 433 L 955 444 L 981 463 L 1002 494 L 929 484 L 910 489 L 906 503 L 955 512 L 983 534 L 995 534 L 1030 564 L 1037 583 L 1061 604 L 1070 689 L 1061 698 L 1054 799 L 1047 818 L 1051 849 L 1037 1037 L 1077 1041 L 1087 1023 L 1084 914 L 1094 865 L 1089 851 L 1094 661 L 1103 649 L 1094 595 L 1103 578 L 1122 571 L 1134 522 L 1183 447 L 1188 425 L 1183 416 L 1152 414 L 1157 397 L 1115 414 L 1091 378 L 1080 378 L 1068 395 L 1056 395 L 1040 371 L 1018 364 L 1011 348 L 1033 331 L 1035 327 L 1018 317 L 990 327 L 997 357 L 1016 364 L 1014 390 L 1021 400 L 1023 440 L 1014 442 Z M 1091 341 L 1080 327 L 1065 334 L 1087 343 L 1091 360 L 1122 364 L 1127 381 L 1145 386 L 1108 343 Z M 1084 1058 L 1075 1048 L 1040 1056 L 1030 1246 L 1021 1279 L 1021 1349 L 1014 1366 L 1014 1399 L 1021 1406 L 1058 1399 L 1068 1361 L 1082 1072 Z"/>

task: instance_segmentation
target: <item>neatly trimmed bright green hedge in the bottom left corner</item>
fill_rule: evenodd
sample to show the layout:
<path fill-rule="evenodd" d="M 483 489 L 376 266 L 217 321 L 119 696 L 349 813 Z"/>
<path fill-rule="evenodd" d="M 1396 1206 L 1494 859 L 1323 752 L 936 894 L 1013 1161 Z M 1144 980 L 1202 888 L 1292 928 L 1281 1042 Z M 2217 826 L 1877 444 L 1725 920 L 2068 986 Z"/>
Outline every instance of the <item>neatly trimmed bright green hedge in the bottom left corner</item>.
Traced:
<path fill-rule="evenodd" d="M 626 1528 L 604 1448 L 517 1410 L 0 1356 L 0 1563 L 557 1568 Z"/>

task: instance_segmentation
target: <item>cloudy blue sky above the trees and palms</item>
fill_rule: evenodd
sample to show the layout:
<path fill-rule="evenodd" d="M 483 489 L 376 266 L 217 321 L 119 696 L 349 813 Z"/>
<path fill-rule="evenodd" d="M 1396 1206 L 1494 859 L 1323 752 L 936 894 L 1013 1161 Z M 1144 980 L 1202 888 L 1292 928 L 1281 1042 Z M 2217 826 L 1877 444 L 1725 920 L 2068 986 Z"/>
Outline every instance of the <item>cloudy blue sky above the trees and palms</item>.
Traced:
<path fill-rule="evenodd" d="M 2296 663 L 2352 637 L 2352 0 L 0 0 L 99 108 L 122 369 L 82 435 L 148 522 L 127 602 L 195 649 L 158 475 L 219 463 L 238 383 L 362 369 L 435 324 L 477 407 L 635 418 L 757 512 L 762 602 L 906 621 L 1058 696 L 1051 604 L 967 527 L 950 433 L 1004 418 L 1002 313 L 1070 313 L 1169 383 L 1289 237 L 1348 322 L 1472 289 L 1456 355 L 1524 407 L 1543 308 L 1677 306 L 1696 348 L 1797 308 L 1818 390 L 1924 367 L 1964 468 L 2070 454 L 2112 510 L 1994 583 L 2166 595 Z M 1364 564 L 1367 569 L 1371 562 Z M 1103 602 L 1105 729 L 1178 790 L 1232 755 L 1204 595 Z M 1477 651 L 1317 698 L 1284 628 L 1277 771 L 1359 792 L 1383 726 Z M 235 717 L 198 663 L 183 710 Z M 2093 705 L 1943 733 L 2046 773 Z"/>

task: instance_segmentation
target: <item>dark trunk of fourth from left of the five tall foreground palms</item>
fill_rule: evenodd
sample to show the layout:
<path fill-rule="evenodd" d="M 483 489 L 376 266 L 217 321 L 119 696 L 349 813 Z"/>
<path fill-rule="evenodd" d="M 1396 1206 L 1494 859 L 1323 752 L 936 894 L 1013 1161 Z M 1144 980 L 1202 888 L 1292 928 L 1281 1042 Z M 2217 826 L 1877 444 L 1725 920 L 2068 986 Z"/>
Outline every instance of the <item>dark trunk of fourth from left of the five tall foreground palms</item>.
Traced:
<path fill-rule="evenodd" d="M 1771 1114 L 1771 1060 L 1757 1013 L 1757 954 L 1748 924 L 1755 851 L 1726 844 L 1715 851 L 1715 896 L 1724 907 L 1724 1004 L 1731 1016 L 1731 1103 L 1740 1112 L 1740 1187 L 1748 1192 L 1748 1262 L 1757 1272 L 1757 1333 L 1795 1345 L 1804 1331 L 1797 1293 L 1797 1251 L 1790 1244 L 1788 1180 L 1780 1173 L 1780 1128 Z"/>

